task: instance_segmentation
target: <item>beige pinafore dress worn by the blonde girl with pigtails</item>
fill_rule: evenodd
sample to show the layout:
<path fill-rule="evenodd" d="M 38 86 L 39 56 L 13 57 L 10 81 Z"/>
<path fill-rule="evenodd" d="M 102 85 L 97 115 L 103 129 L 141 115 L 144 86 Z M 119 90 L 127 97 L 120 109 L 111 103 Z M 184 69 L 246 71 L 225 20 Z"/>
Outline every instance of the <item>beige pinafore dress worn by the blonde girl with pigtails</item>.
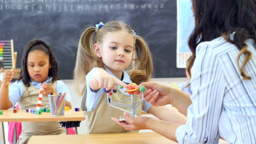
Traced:
<path fill-rule="evenodd" d="M 117 89 L 117 88 L 116 88 Z M 117 94 L 120 100 L 127 99 L 127 96 L 122 95 L 122 93 L 117 89 Z M 138 132 L 138 131 L 127 131 L 123 127 L 115 123 L 111 117 L 116 117 L 119 119 L 119 116 L 124 116 L 124 111 L 117 108 L 111 107 L 107 104 L 107 94 L 103 92 L 100 102 L 98 105 L 91 111 L 87 111 L 85 107 L 86 102 L 86 89 L 83 94 L 81 102 L 81 110 L 85 116 L 86 125 L 87 125 L 87 134 L 101 134 L 101 133 L 123 133 L 123 132 Z M 134 102 L 140 101 L 139 96 L 134 96 Z M 112 101 L 119 102 L 115 94 L 112 95 Z M 131 104 L 131 101 L 123 102 L 125 104 Z M 142 112 L 143 102 L 140 104 L 136 110 L 136 115 L 140 116 Z M 122 107 L 124 108 L 124 107 Z M 129 108 L 124 108 L 131 111 Z"/>

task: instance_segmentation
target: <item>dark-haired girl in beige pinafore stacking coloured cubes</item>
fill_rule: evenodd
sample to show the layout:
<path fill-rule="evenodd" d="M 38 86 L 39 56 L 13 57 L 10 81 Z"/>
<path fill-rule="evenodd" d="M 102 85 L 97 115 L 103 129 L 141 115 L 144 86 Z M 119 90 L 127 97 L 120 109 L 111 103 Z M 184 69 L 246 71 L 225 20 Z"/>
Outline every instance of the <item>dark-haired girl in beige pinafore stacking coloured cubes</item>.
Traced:
<path fill-rule="evenodd" d="M 43 92 L 40 108 L 49 108 L 50 92 L 65 92 L 65 105 L 71 108 L 71 96 L 67 86 L 58 80 L 58 66 L 53 52 L 42 40 L 28 43 L 22 56 L 19 79 L 9 87 L 12 77 L 13 70 L 6 70 L 0 89 L 0 109 L 14 107 L 16 102 L 20 109 L 36 109 L 40 92 Z M 27 144 L 33 135 L 60 134 L 65 134 L 65 130 L 59 122 L 42 122 L 39 118 L 38 122 L 22 122 L 22 132 L 17 144 Z"/>

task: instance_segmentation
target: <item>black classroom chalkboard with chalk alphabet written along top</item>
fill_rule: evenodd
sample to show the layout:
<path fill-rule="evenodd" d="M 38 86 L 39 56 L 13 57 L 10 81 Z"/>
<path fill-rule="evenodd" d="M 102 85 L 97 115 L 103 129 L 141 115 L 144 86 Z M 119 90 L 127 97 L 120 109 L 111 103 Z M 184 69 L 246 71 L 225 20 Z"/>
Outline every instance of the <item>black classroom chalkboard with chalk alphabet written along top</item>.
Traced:
<path fill-rule="evenodd" d="M 79 36 L 89 25 L 122 20 L 147 40 L 155 78 L 185 77 L 176 67 L 176 0 L 0 0 L 0 39 L 13 39 L 22 53 L 32 39 L 45 40 L 61 79 L 73 79 Z"/>

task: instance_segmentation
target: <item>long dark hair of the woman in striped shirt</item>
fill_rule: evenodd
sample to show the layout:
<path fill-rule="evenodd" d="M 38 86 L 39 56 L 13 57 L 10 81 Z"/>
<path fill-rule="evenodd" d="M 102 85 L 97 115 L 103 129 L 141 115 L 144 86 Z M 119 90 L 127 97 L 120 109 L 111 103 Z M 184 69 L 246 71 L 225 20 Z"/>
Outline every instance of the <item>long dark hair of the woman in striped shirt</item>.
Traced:
<path fill-rule="evenodd" d="M 193 58 L 196 57 L 196 46 L 199 43 L 223 36 L 240 50 L 237 63 L 240 56 L 244 54 L 245 58 L 241 67 L 238 65 L 238 68 L 244 79 L 251 79 L 244 67 L 251 59 L 252 53 L 247 50 L 244 42 L 249 38 L 256 42 L 255 3 L 255 0 L 192 0 L 195 28 L 189 37 L 189 47 Z M 233 32 L 235 32 L 234 40 L 231 40 L 230 35 Z"/>

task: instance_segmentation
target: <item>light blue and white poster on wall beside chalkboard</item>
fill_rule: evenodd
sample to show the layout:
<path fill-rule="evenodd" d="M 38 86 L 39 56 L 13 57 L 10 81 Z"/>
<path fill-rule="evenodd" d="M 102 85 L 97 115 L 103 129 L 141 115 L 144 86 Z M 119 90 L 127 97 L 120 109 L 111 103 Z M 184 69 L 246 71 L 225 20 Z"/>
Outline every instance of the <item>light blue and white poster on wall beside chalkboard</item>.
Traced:
<path fill-rule="evenodd" d="M 192 55 L 188 38 L 194 27 L 191 0 L 177 0 L 177 68 L 186 68 L 186 61 Z"/>

